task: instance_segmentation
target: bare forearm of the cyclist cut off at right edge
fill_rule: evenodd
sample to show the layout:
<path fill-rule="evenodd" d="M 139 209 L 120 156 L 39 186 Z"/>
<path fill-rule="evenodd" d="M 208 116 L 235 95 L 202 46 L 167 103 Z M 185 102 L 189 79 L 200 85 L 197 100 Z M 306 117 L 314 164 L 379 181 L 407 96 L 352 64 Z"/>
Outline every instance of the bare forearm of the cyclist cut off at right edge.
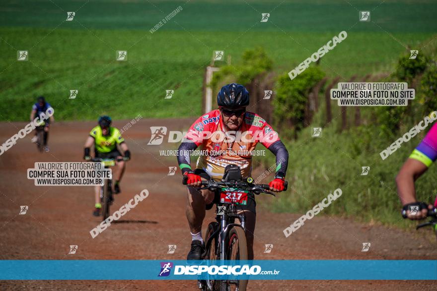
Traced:
<path fill-rule="evenodd" d="M 423 163 L 408 159 L 396 176 L 398 196 L 402 205 L 416 202 L 416 188 L 414 182 L 428 170 Z"/>

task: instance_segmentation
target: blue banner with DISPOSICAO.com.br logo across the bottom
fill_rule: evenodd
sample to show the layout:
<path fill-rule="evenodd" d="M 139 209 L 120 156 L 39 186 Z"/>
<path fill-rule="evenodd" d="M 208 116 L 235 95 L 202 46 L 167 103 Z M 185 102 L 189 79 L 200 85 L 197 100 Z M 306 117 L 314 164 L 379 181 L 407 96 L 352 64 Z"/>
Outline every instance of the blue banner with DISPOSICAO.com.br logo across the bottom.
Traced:
<path fill-rule="evenodd" d="M 436 260 L 0 260 L 0 280 L 437 280 Z"/>

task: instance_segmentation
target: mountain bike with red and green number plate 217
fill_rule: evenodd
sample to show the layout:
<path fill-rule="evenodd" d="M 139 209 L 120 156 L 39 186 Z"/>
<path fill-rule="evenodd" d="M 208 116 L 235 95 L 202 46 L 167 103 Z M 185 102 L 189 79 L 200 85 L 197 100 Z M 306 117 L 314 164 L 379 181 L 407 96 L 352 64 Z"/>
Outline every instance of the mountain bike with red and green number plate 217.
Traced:
<path fill-rule="evenodd" d="M 232 172 L 232 173 L 230 173 Z M 184 184 L 186 179 L 183 180 Z M 287 190 L 288 182 L 285 182 Z M 204 260 L 247 260 L 247 243 L 245 233 L 246 219 L 244 214 L 237 213 L 237 206 L 247 205 L 247 199 L 254 199 L 253 194 L 266 193 L 276 196 L 268 191 L 269 185 L 255 184 L 251 177 L 245 181 L 241 178 L 239 167 L 231 169 L 223 175 L 221 181 L 204 180 L 202 189 L 218 191 L 220 200 L 216 204 L 216 222 L 211 222 L 205 234 Z M 240 224 L 235 223 L 238 218 Z M 199 280 L 198 287 L 204 291 L 245 291 L 247 280 Z"/>

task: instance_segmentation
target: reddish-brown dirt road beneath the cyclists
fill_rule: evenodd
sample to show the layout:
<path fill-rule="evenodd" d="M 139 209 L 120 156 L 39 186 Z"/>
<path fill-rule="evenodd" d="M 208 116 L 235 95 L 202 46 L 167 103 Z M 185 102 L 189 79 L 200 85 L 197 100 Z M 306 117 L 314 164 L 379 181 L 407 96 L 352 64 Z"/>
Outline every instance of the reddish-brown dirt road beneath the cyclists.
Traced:
<path fill-rule="evenodd" d="M 112 210 L 147 189 L 148 198 L 116 223 L 92 238 L 89 231 L 100 221 L 91 215 L 92 187 L 35 186 L 26 170 L 35 162 L 81 161 L 83 143 L 95 122 L 59 122 L 53 125 L 50 153 L 38 153 L 28 136 L 0 156 L 0 258 L 1 259 L 185 259 L 191 241 L 185 218 L 185 189 L 175 157 L 159 155 L 176 144 L 148 146 L 149 126 L 186 130 L 192 118 L 142 119 L 124 134 L 131 152 L 122 193 Z M 116 121 L 123 127 L 129 121 Z M 0 123 L 1 143 L 25 123 Z M 292 149 L 289 149 L 292 155 Z M 267 178 L 266 180 L 267 181 Z M 284 193 L 282 195 L 287 195 Z M 299 214 L 268 211 L 273 197 L 260 197 L 255 231 L 255 258 L 269 259 L 437 259 L 431 232 L 405 233 L 397 229 L 369 226 L 319 215 L 286 238 L 283 234 Z M 18 215 L 27 205 L 26 215 Z M 205 224 L 212 221 L 213 210 Z M 205 228 L 204 228 L 205 229 Z M 368 252 L 362 243 L 371 242 Z M 264 245 L 273 243 L 271 253 Z M 176 244 L 174 254 L 168 245 Z M 69 255 L 70 245 L 78 245 Z M 117 272 L 117 270 L 108 270 Z M 365 272 L 365 270 L 364 270 Z M 431 290 L 436 282 L 426 281 L 252 281 L 249 290 Z M 192 281 L 2 281 L 0 290 L 196 290 Z"/>

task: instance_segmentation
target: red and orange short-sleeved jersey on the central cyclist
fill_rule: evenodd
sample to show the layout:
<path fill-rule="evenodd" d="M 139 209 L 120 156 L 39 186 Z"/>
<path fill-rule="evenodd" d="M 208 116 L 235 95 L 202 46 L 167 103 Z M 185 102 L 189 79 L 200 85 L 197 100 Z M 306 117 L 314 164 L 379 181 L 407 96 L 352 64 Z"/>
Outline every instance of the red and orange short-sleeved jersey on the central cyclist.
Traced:
<path fill-rule="evenodd" d="M 225 131 L 220 111 L 214 110 L 199 117 L 190 127 L 187 139 L 207 151 L 197 160 L 197 168 L 203 169 L 214 179 L 221 179 L 224 168 L 234 164 L 241 168 L 244 178 L 251 175 L 252 155 L 261 142 L 266 148 L 279 140 L 278 134 L 261 116 L 246 112 L 238 131 Z"/>

